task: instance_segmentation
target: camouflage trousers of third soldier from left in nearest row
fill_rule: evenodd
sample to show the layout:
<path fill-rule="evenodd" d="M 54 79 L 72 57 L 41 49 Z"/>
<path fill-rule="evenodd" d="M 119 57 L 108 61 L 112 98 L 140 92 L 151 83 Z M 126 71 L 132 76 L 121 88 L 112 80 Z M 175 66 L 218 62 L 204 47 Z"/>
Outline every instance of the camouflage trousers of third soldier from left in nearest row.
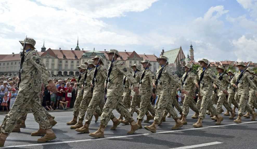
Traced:
<path fill-rule="evenodd" d="M 173 101 L 174 98 L 170 98 L 170 96 L 159 95 L 157 99 L 158 99 L 158 105 L 156 108 L 154 120 L 158 121 L 158 124 L 162 119 L 162 116 L 165 114 L 164 113 L 165 110 L 167 110 L 167 112 L 171 114 L 173 119 L 178 118 L 178 115 L 175 109 L 172 107 L 172 103 L 174 103 Z"/>

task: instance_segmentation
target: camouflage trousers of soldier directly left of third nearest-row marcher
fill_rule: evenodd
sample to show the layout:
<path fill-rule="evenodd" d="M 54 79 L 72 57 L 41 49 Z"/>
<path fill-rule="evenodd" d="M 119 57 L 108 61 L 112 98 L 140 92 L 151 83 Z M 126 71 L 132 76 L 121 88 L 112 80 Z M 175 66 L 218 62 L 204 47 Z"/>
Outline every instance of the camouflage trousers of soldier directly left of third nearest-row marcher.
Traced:
<path fill-rule="evenodd" d="M 141 96 L 139 114 L 137 116 L 138 119 L 143 119 L 147 111 L 149 111 L 152 115 L 155 115 L 155 109 L 152 107 L 150 99 L 151 95 Z"/>

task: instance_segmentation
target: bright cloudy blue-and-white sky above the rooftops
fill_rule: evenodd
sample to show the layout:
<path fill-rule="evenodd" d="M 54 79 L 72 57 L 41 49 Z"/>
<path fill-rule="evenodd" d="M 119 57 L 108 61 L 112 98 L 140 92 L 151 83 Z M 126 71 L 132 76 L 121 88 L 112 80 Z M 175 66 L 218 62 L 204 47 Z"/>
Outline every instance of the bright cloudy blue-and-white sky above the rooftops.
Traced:
<path fill-rule="evenodd" d="M 190 43 L 195 60 L 257 62 L 257 0 L 0 0 L 0 54 L 25 36 L 70 50 L 159 55 Z"/>

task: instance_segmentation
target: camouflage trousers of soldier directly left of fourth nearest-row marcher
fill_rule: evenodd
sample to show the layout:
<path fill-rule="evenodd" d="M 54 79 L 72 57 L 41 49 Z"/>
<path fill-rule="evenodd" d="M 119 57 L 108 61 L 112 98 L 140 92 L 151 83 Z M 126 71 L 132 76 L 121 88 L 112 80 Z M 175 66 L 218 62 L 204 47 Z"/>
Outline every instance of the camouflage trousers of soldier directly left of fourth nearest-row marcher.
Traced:
<path fill-rule="evenodd" d="M 185 96 L 184 101 L 183 101 L 183 114 L 185 116 L 188 115 L 189 108 L 191 108 L 195 113 L 199 114 L 199 110 L 196 107 L 194 98 L 192 96 Z"/>

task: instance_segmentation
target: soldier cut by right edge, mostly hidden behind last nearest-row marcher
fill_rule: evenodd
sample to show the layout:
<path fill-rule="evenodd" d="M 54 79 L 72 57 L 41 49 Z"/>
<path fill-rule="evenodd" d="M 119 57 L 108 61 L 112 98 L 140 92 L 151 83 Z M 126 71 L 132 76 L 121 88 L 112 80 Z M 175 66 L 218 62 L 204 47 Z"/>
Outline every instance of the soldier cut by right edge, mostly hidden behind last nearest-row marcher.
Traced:
<path fill-rule="evenodd" d="M 247 68 L 246 71 L 249 73 L 249 77 L 254 78 L 253 82 L 256 85 L 257 79 L 256 79 L 256 77 L 253 77 L 254 71 L 251 68 Z M 256 93 L 256 90 L 252 86 L 250 86 L 250 88 L 249 88 L 249 101 L 248 101 L 248 104 L 253 109 L 253 111 L 254 111 L 254 107 L 257 109 L 255 93 Z M 247 112 L 243 116 L 246 117 L 246 118 L 250 118 L 250 113 Z"/>

